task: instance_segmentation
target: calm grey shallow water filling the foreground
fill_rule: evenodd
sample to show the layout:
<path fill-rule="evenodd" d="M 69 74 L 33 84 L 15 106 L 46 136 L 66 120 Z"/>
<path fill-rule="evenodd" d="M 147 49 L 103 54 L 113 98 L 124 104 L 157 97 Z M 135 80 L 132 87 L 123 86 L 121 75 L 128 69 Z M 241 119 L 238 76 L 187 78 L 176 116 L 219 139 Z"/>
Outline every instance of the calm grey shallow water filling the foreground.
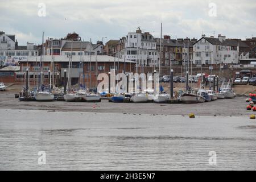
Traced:
<path fill-rule="evenodd" d="M 249 117 L 9 109 L 0 115 L 2 170 L 256 168 L 256 121 Z M 208 162 L 210 151 L 216 165 Z"/>

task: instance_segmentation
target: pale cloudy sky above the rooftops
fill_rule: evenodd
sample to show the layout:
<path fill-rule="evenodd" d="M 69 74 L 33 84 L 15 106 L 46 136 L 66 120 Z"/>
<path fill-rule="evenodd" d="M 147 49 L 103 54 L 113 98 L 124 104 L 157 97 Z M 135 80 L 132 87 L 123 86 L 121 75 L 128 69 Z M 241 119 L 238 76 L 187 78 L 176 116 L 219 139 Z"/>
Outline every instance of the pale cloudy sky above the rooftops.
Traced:
<path fill-rule="evenodd" d="M 3 1 L 3 0 L 1 0 Z M 255 0 L 9 0 L 0 6 L 0 31 L 15 34 L 19 46 L 63 38 L 76 32 L 82 40 L 119 39 L 141 27 L 160 37 L 256 36 Z"/>

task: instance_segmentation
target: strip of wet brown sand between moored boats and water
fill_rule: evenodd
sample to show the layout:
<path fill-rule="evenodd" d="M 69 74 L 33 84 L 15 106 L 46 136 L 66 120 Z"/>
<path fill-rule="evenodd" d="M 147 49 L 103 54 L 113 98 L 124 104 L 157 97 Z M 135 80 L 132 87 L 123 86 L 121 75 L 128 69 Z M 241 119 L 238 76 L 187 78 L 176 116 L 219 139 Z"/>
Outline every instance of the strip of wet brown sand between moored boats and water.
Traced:
<path fill-rule="evenodd" d="M 198 104 L 157 104 L 157 103 L 113 103 L 102 100 L 98 103 L 87 102 L 20 102 L 14 93 L 0 92 L 0 109 L 47 110 L 47 111 L 80 111 L 94 113 L 127 113 L 127 114 L 163 114 L 163 115 L 196 115 L 209 116 L 248 116 L 254 113 L 246 110 L 246 97 L 229 100 L 217 100 Z M 256 112 L 255 112 L 256 114 Z"/>

